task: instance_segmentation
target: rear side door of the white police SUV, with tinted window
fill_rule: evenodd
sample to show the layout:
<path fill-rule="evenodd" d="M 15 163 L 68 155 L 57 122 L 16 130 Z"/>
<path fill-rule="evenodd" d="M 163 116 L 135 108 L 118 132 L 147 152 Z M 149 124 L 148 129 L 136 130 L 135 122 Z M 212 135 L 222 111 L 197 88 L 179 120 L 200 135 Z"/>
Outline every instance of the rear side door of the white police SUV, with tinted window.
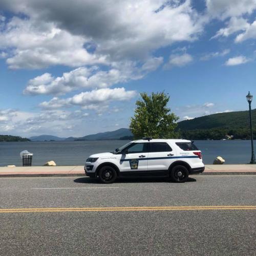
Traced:
<path fill-rule="evenodd" d="M 175 149 L 167 142 L 150 142 L 148 153 L 148 171 L 155 171 L 159 175 L 168 175 L 169 166 L 176 161 Z"/>

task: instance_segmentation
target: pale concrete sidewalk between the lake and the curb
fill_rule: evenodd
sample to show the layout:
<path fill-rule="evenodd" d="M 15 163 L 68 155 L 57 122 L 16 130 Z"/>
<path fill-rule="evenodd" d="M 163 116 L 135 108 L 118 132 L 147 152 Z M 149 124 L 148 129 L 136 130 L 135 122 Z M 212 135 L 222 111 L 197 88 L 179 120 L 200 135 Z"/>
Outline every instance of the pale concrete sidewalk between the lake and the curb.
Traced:
<path fill-rule="evenodd" d="M 256 164 L 206 164 L 199 175 L 251 175 L 256 174 Z M 0 177 L 50 177 L 85 176 L 83 166 L 30 166 L 0 167 Z"/>

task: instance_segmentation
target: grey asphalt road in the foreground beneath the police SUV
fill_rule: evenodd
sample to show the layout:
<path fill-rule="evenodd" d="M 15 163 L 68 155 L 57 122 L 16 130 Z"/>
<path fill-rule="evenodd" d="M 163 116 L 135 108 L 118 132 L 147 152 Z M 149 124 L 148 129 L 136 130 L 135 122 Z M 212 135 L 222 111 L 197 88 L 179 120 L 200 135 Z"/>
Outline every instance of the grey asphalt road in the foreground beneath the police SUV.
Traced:
<path fill-rule="evenodd" d="M 77 177 L 1 178 L 0 255 L 256 255 L 255 208 L 100 210 L 256 206 L 255 175 L 193 178 L 110 185 Z M 20 208 L 49 210 L 15 212 Z"/>

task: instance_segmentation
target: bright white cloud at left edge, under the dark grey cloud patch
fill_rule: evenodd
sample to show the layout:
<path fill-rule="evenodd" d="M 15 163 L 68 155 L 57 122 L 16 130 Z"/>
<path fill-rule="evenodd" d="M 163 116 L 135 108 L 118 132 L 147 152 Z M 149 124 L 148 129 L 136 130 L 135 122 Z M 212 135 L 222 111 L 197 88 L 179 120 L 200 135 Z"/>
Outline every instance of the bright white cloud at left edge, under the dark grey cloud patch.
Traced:
<path fill-rule="evenodd" d="M 40 69 L 52 65 L 78 67 L 105 63 L 105 57 L 84 49 L 88 39 L 61 30 L 53 23 L 13 17 L 0 31 L 0 49 L 10 52 L 12 69 Z"/>

